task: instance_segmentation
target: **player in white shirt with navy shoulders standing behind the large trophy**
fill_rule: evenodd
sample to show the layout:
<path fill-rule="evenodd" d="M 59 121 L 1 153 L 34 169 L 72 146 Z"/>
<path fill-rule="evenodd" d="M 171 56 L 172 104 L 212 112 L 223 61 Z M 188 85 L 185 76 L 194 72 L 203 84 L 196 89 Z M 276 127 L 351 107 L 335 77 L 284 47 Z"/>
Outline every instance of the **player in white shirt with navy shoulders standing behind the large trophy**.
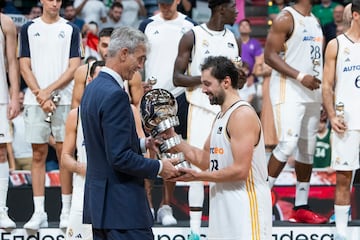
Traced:
<path fill-rule="evenodd" d="M 188 103 L 185 88 L 175 87 L 173 84 L 174 62 L 181 37 L 197 24 L 177 11 L 179 3 L 180 0 L 158 0 L 159 13 L 142 21 L 139 30 L 148 37 L 151 47 L 146 56 L 145 79 L 155 77 L 157 82 L 153 88 L 163 88 L 174 95 L 180 121 L 175 129 L 186 138 Z M 174 189 L 174 182 L 164 182 L 162 200 L 157 211 L 157 221 L 164 226 L 177 223 L 170 205 Z"/>

